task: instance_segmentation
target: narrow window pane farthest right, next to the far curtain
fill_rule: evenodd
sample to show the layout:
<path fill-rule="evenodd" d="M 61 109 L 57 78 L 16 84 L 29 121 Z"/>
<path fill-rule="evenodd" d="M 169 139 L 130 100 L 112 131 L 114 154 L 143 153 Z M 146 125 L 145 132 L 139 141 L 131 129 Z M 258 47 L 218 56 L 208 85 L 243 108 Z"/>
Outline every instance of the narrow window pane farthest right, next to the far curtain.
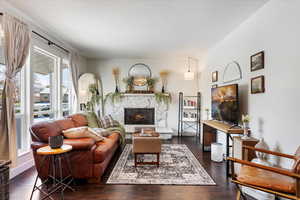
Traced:
<path fill-rule="evenodd" d="M 63 59 L 61 65 L 61 114 L 68 116 L 72 106 L 72 82 L 70 75 L 69 62 Z"/>

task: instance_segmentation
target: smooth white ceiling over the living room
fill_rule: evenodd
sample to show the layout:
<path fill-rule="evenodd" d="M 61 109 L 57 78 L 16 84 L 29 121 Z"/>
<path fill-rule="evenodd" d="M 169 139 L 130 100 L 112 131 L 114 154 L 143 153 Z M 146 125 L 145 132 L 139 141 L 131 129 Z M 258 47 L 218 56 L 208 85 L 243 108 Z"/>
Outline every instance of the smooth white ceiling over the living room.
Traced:
<path fill-rule="evenodd" d="M 193 56 L 268 0 L 10 0 L 88 58 Z"/>

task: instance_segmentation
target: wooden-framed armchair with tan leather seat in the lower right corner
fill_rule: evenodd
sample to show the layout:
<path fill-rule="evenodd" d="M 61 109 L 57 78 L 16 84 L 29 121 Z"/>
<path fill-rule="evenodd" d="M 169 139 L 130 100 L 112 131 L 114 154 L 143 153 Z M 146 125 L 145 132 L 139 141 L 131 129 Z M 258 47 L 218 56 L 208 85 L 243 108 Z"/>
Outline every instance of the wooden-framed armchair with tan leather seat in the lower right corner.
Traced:
<path fill-rule="evenodd" d="M 235 183 L 238 188 L 237 200 L 241 199 L 241 197 L 246 199 L 240 186 L 246 186 L 274 194 L 276 197 L 300 200 L 300 147 L 298 147 L 295 155 L 288 155 L 250 146 L 243 146 L 243 151 L 259 151 L 270 155 L 293 159 L 294 165 L 291 170 L 287 170 L 269 167 L 247 160 L 240 160 L 232 157 L 227 158 L 231 161 L 232 182 Z M 240 172 L 237 175 L 234 173 L 234 163 L 241 164 Z"/>

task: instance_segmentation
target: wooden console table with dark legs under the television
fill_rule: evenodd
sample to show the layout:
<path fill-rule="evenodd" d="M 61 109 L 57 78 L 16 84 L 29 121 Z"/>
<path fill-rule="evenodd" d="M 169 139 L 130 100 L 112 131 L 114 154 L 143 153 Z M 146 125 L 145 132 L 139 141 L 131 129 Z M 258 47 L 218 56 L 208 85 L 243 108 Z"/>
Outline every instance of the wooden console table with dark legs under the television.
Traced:
<path fill-rule="evenodd" d="M 202 150 L 210 151 L 211 143 L 216 142 L 217 132 L 221 131 L 226 134 L 226 157 L 229 157 L 229 139 L 233 141 L 231 135 L 241 135 L 244 130 L 240 127 L 232 127 L 229 124 L 215 121 L 215 120 L 203 120 L 202 121 Z M 229 176 L 229 162 L 226 161 L 226 175 Z"/>

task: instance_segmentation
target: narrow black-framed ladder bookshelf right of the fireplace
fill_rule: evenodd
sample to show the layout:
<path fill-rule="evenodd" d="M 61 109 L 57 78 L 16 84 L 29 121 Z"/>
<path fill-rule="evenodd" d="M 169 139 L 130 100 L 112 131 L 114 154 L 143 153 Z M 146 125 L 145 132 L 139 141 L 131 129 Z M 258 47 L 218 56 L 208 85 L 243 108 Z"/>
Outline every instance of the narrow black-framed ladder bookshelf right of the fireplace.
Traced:
<path fill-rule="evenodd" d="M 194 132 L 195 136 L 200 136 L 201 122 L 201 94 L 195 96 L 185 96 L 179 92 L 178 110 L 178 136 L 183 136 L 184 132 Z"/>

